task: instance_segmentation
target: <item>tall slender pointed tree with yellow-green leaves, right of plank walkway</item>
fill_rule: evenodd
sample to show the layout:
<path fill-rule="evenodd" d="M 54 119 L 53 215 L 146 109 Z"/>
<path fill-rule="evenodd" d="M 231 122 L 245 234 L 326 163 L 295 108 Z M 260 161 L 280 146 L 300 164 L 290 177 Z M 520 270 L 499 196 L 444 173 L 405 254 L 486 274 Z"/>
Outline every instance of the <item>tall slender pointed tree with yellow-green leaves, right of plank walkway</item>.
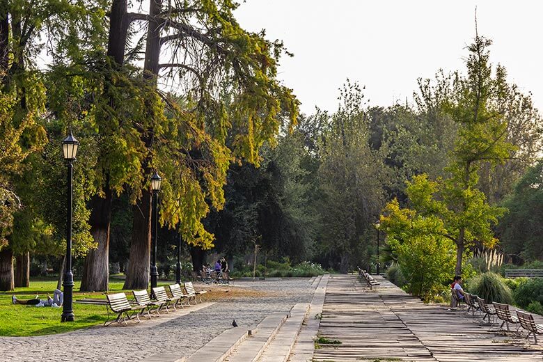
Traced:
<path fill-rule="evenodd" d="M 478 241 L 487 247 L 496 239 L 491 224 L 505 210 L 492 207 L 478 189 L 478 171 L 483 162 L 500 164 L 510 157 L 514 147 L 507 142 L 507 122 L 503 113 L 490 102 L 491 95 L 502 95 L 505 79 L 497 70 L 492 77 L 487 47 L 491 41 L 475 36 L 466 66 L 467 77 L 457 78 L 457 91 L 446 111 L 459 125 L 453 150 L 453 161 L 447 171 L 451 177 L 443 184 L 443 199 L 447 203 L 446 228 L 457 244 L 455 273 L 462 273 L 462 258 L 466 246 Z"/>

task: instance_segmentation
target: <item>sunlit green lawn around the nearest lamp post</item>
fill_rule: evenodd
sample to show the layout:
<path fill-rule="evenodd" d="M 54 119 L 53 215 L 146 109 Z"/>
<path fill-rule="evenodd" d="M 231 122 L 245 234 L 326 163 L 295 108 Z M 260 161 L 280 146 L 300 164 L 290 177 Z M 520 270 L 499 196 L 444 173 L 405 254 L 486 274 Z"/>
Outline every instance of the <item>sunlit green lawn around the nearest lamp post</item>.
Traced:
<path fill-rule="evenodd" d="M 110 278 L 109 292 L 120 292 L 123 280 Z M 105 299 L 103 292 L 77 292 L 81 281 L 75 281 L 74 301 L 81 298 Z M 159 285 L 167 285 L 167 282 Z M 33 299 L 39 294 L 40 299 L 47 299 L 47 294 L 53 295 L 56 279 L 35 278 L 29 288 L 15 288 L 15 291 L 0 292 L 0 336 L 42 336 L 54 333 L 64 333 L 76 329 L 103 324 L 107 319 L 105 306 L 74 303 L 75 321 L 61 323 L 62 308 L 24 306 L 12 304 L 11 296 L 17 299 Z M 125 290 L 127 295 L 131 290 Z"/>

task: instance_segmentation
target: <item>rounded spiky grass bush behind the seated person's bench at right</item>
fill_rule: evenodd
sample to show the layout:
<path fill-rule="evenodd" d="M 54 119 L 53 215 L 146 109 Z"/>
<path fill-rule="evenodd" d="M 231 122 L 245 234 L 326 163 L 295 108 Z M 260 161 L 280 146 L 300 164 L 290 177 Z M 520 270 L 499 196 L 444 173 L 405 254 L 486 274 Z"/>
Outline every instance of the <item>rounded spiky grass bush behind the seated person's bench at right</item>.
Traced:
<path fill-rule="evenodd" d="M 485 299 L 487 303 L 512 304 L 513 294 L 503 279 L 496 273 L 483 273 L 469 281 L 469 291 Z"/>

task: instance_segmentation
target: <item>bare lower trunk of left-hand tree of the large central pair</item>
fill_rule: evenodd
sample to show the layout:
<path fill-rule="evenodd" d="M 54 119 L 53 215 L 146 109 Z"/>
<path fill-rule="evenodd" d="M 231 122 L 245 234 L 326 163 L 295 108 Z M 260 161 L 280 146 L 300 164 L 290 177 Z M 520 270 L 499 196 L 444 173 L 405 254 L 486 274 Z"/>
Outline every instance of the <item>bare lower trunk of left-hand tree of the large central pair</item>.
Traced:
<path fill-rule="evenodd" d="M 91 199 L 91 235 L 98 243 L 95 250 L 88 251 L 85 258 L 81 292 L 105 292 L 109 289 L 109 224 L 111 222 L 111 189 L 106 187 L 105 198 Z"/>

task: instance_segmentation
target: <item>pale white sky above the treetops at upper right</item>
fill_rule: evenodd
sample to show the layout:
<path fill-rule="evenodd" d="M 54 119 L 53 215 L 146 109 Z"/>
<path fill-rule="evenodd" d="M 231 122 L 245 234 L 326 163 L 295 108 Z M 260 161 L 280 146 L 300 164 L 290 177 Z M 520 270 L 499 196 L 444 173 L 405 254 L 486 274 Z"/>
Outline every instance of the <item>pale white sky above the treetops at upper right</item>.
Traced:
<path fill-rule="evenodd" d="M 464 72 L 475 7 L 479 35 L 493 40 L 491 63 L 543 109 L 543 1 L 246 0 L 235 16 L 294 53 L 281 58 L 278 78 L 313 113 L 336 111 L 347 78 L 387 107 L 411 100 L 419 77 Z"/>

